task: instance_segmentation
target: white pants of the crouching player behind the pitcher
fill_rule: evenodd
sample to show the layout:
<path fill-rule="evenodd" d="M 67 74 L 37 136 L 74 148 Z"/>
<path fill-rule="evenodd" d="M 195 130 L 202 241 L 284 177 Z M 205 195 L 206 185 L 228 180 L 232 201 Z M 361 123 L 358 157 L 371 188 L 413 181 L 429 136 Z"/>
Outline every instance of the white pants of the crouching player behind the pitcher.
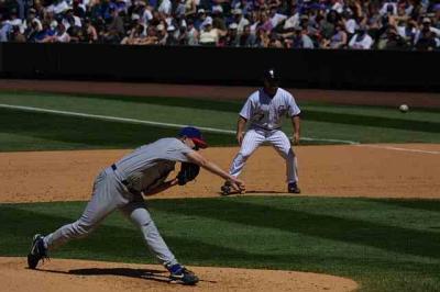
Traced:
<path fill-rule="evenodd" d="M 265 131 L 258 128 L 250 128 L 243 137 L 240 151 L 237 154 L 229 169 L 231 176 L 238 177 L 243 170 L 248 158 L 264 142 L 268 142 L 277 150 L 277 153 L 286 160 L 286 182 L 298 181 L 297 158 L 290 146 L 290 141 L 280 130 Z"/>

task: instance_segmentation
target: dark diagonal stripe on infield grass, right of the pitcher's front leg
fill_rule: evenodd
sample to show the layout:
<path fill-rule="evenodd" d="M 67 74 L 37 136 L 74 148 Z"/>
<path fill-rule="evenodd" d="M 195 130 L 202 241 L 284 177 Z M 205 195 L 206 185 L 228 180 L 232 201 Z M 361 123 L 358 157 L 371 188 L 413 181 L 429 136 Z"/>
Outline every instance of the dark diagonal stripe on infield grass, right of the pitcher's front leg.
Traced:
<path fill-rule="evenodd" d="M 387 226 L 356 218 L 311 214 L 294 210 L 294 207 L 282 210 L 238 200 L 183 200 L 176 201 L 175 204 L 162 204 L 157 201 L 151 206 L 177 214 L 300 233 L 398 254 L 440 258 L 438 248 L 440 236 L 437 232 Z"/>

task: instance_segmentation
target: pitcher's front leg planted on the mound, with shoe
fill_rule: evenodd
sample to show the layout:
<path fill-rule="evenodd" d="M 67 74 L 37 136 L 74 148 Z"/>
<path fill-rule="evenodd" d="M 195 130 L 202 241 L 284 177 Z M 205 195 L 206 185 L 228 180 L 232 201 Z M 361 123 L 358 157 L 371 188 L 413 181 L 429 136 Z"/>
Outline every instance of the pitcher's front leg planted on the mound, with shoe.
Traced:
<path fill-rule="evenodd" d="M 132 202 L 120 210 L 141 229 L 144 242 L 150 251 L 156 256 L 157 260 L 164 265 L 166 269 L 169 270 L 172 280 L 178 280 L 184 284 L 195 284 L 199 281 L 197 276 L 177 262 L 175 256 L 162 238 L 141 195 L 134 196 Z"/>

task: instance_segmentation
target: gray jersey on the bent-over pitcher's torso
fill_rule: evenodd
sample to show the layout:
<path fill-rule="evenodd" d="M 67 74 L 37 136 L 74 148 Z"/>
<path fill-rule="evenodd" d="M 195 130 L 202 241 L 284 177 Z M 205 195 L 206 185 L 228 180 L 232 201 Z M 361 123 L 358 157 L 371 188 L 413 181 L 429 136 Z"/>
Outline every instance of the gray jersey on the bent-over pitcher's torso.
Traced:
<path fill-rule="evenodd" d="M 178 138 L 162 138 L 143 145 L 116 162 L 120 179 L 138 191 L 160 186 L 174 170 L 176 161 L 187 162 L 186 154 L 194 151 Z"/>

